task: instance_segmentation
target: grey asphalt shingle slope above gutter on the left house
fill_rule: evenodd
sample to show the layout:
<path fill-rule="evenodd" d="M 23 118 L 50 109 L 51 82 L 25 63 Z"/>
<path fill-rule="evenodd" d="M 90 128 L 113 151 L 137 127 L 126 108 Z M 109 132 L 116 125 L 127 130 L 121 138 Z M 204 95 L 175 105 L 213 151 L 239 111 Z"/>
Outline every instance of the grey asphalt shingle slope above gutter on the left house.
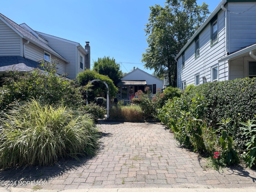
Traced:
<path fill-rule="evenodd" d="M 14 21 L 10 20 L 9 18 L 7 18 L 6 16 L 2 15 L 0 13 L 0 16 L 7 21 L 10 25 L 12 25 L 12 27 L 14 27 L 17 31 L 19 31 L 23 36 L 31 39 L 32 41 L 40 44 L 41 46 L 43 46 L 44 48 L 50 50 L 51 52 L 55 53 L 56 55 L 58 55 L 60 58 L 65 59 L 64 57 L 62 57 L 59 53 L 57 53 L 56 51 L 54 51 L 48 44 L 45 44 L 43 41 L 40 41 L 39 39 L 37 39 L 37 37 L 35 37 L 33 34 L 31 34 L 28 30 L 24 29 L 23 27 L 20 27 L 20 25 L 18 25 L 17 23 L 15 23 Z M 67 60 L 67 59 L 66 59 Z"/>

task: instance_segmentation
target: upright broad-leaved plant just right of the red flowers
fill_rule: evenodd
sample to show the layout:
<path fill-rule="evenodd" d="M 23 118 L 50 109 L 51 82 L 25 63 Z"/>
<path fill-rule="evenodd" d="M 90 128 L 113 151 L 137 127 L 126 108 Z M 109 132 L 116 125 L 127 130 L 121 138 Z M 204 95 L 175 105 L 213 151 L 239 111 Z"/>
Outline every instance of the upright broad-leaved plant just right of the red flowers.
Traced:
<path fill-rule="evenodd" d="M 222 154 L 226 157 L 227 164 L 232 164 L 238 161 L 237 152 L 233 149 L 233 139 L 234 133 L 232 128 L 229 126 L 231 119 L 222 119 L 221 127 L 217 130 L 221 130 L 221 136 L 219 137 L 219 142 L 222 147 Z M 217 132 L 216 131 L 216 132 Z"/>

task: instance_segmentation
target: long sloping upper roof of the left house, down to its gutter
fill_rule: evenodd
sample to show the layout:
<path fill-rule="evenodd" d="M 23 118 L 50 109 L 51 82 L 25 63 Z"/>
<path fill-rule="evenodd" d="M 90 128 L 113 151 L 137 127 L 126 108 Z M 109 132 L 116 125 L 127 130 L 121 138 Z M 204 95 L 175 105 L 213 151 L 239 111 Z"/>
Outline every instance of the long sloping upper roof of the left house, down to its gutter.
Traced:
<path fill-rule="evenodd" d="M 53 55 L 59 57 L 60 59 L 64 60 L 65 62 L 69 63 L 69 61 L 67 59 L 65 59 L 59 53 L 54 51 L 51 47 L 49 47 L 49 45 L 45 44 L 43 41 L 40 41 L 39 39 L 37 39 L 37 37 L 35 37 L 33 34 L 31 34 L 28 30 L 24 29 L 23 27 L 21 27 L 20 25 L 18 25 L 17 23 L 15 23 L 14 21 L 10 20 L 9 18 L 7 18 L 6 16 L 4 16 L 0 13 L 0 19 L 1 18 L 3 19 L 3 22 L 5 24 L 7 24 L 9 27 L 11 27 L 22 38 L 29 40 L 31 42 L 34 42 L 35 44 L 47 49 Z"/>

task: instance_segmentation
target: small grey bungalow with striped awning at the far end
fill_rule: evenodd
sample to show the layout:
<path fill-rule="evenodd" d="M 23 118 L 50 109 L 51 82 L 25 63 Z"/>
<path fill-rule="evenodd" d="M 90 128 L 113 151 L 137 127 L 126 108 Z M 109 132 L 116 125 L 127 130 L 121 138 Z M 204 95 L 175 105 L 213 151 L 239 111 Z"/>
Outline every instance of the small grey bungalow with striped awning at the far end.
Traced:
<path fill-rule="evenodd" d="M 146 87 L 149 87 L 151 93 L 155 95 L 158 88 L 163 89 L 163 81 L 137 68 L 123 76 L 118 87 L 119 100 L 131 100 L 138 90 L 145 92 Z"/>

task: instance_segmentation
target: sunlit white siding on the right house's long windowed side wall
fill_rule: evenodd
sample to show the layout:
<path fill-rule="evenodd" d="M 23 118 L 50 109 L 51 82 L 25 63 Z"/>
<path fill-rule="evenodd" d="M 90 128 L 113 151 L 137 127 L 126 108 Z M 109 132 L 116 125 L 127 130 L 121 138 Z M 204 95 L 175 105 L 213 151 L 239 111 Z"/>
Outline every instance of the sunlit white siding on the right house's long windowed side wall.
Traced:
<path fill-rule="evenodd" d="M 228 80 L 227 62 L 218 63 L 218 59 L 225 55 L 225 22 L 224 11 L 218 13 L 218 42 L 211 46 L 211 24 L 209 23 L 199 34 L 199 57 L 195 59 L 195 43 L 191 43 L 185 50 L 185 68 L 182 69 L 182 55 L 178 58 L 178 87 L 181 82 L 186 85 L 195 84 L 195 75 L 199 73 L 199 83 L 211 82 L 211 67 L 219 66 L 219 80 Z"/>

